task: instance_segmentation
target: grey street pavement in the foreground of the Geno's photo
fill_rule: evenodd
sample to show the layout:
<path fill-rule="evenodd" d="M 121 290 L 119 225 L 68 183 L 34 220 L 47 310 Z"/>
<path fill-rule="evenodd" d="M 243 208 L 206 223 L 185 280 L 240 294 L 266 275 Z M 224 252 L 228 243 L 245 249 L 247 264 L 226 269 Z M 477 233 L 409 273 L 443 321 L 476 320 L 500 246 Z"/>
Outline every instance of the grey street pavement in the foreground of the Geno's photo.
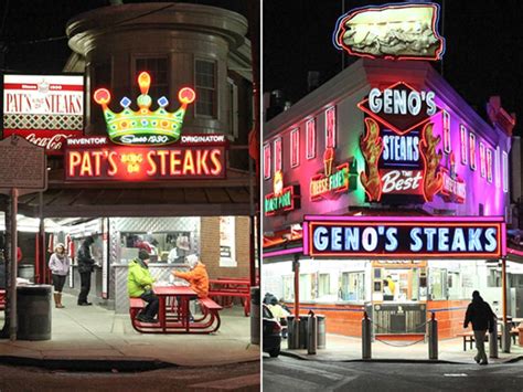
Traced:
<path fill-rule="evenodd" d="M 478 365 L 263 358 L 264 392 L 523 391 L 523 362 Z"/>

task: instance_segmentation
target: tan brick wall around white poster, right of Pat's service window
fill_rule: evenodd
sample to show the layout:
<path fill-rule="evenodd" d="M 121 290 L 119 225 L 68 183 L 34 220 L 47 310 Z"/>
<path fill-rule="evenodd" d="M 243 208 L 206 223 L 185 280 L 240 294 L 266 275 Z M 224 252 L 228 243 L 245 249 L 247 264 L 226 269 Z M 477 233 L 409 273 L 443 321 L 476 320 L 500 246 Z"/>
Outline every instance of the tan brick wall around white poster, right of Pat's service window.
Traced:
<path fill-rule="evenodd" d="M 202 216 L 200 242 L 202 262 L 207 267 L 209 277 L 245 277 L 249 276 L 248 241 L 249 222 L 247 216 L 236 216 L 236 261 L 237 267 L 220 266 L 220 218 Z"/>

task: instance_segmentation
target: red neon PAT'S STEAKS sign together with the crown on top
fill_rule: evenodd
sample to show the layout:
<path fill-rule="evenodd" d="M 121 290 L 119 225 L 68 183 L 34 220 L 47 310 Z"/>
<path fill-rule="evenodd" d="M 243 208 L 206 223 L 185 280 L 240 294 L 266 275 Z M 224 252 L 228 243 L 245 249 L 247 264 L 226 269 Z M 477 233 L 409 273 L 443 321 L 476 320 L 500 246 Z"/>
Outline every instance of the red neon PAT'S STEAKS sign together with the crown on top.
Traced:
<path fill-rule="evenodd" d="M 192 88 L 181 88 L 181 106 L 174 113 L 166 109 L 166 97 L 158 99 L 151 110 L 148 95 L 151 77 L 147 72 L 138 76 L 141 95 L 137 112 L 131 100 L 124 97 L 124 110 L 113 112 L 108 105 L 110 93 L 99 88 L 94 99 L 104 109 L 107 137 L 67 139 L 65 179 L 68 181 L 149 181 L 225 178 L 225 135 L 182 135 L 183 117 L 195 99 Z"/>

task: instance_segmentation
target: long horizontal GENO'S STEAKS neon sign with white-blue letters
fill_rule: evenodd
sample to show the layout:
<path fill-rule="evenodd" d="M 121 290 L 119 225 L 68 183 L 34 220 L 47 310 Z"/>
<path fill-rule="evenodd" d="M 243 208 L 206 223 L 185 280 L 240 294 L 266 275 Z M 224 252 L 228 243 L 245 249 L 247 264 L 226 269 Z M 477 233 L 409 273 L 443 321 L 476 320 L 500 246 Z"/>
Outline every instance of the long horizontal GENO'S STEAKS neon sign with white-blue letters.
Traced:
<path fill-rule="evenodd" d="M 500 258 L 502 218 L 305 216 L 310 256 Z"/>

